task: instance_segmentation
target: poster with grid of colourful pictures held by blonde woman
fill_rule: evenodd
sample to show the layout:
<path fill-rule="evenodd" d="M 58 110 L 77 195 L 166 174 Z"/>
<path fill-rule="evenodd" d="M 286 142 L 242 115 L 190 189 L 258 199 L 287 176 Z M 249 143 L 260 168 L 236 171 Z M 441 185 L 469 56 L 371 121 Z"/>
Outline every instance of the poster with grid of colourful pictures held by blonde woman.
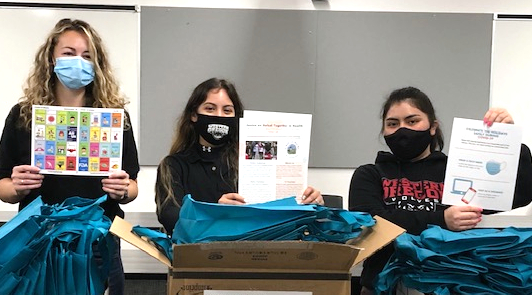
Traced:
<path fill-rule="evenodd" d="M 124 110 L 34 105 L 31 165 L 44 174 L 122 170 Z"/>

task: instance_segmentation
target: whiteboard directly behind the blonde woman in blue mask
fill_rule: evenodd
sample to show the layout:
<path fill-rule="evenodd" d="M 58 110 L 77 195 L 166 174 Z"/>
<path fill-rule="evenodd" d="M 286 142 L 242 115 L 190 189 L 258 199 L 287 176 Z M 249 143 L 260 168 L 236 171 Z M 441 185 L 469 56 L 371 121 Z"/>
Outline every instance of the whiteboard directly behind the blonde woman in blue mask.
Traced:
<path fill-rule="evenodd" d="M 0 9 L 0 130 L 23 94 L 37 49 L 62 18 L 84 20 L 102 37 L 121 90 L 131 102 L 126 108 L 138 138 L 140 17 L 133 11 Z M 18 205 L 0 202 L 3 210 L 16 211 Z"/>

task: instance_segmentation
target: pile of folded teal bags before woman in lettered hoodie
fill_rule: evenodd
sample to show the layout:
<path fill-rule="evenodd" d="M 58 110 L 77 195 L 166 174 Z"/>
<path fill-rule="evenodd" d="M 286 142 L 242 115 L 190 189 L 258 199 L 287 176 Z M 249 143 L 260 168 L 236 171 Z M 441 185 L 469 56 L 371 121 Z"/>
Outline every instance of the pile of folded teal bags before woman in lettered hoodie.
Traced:
<path fill-rule="evenodd" d="M 394 294 L 402 281 L 424 293 L 532 294 L 532 229 L 453 232 L 430 226 L 403 234 L 378 277 L 378 292 Z"/>

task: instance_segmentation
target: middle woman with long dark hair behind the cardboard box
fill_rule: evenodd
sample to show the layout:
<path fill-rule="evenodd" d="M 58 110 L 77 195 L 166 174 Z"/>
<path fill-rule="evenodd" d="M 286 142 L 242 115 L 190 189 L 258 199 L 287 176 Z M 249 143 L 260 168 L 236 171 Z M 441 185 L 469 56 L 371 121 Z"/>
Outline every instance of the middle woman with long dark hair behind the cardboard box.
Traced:
<path fill-rule="evenodd" d="M 177 123 L 170 153 L 159 164 L 155 202 L 159 222 L 172 233 L 183 197 L 196 201 L 245 204 L 237 194 L 238 119 L 244 107 L 234 85 L 211 78 L 199 84 Z M 323 204 L 308 187 L 303 203 Z"/>

